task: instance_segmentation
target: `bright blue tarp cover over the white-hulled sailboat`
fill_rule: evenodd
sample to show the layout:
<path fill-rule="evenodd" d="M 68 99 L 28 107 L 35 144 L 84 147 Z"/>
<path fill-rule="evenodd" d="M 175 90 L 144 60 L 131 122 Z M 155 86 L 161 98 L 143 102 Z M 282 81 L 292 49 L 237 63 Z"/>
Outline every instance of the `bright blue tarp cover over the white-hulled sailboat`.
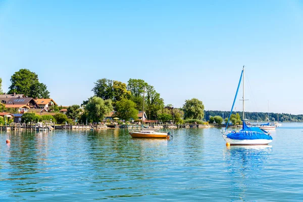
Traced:
<path fill-rule="evenodd" d="M 231 131 L 231 133 L 227 134 L 227 137 L 229 139 L 273 139 L 272 136 L 269 134 L 264 133 L 260 128 L 258 127 L 248 127 L 245 124 L 245 121 L 243 121 L 243 128 L 239 132 Z"/>

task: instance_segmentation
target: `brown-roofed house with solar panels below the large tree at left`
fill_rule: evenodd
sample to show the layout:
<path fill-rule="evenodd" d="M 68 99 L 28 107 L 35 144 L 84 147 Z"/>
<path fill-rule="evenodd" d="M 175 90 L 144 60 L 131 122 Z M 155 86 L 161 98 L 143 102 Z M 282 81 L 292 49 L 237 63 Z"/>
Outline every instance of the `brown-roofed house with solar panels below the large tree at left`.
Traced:
<path fill-rule="evenodd" d="M 37 104 L 35 103 L 32 97 L 14 97 L 9 99 L 6 102 L 5 108 L 14 108 L 18 109 L 19 113 L 25 113 L 30 108 L 37 108 Z"/>

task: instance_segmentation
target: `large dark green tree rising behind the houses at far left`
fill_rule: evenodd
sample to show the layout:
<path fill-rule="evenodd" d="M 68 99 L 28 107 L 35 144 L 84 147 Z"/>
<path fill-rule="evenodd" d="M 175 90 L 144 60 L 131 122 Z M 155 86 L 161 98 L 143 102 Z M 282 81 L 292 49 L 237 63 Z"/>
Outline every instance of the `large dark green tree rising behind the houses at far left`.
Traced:
<path fill-rule="evenodd" d="M 20 69 L 18 72 L 15 72 L 11 77 L 11 82 L 12 85 L 9 87 L 9 94 L 16 92 L 29 97 L 49 97 L 46 85 L 40 83 L 38 75 L 28 69 Z"/>

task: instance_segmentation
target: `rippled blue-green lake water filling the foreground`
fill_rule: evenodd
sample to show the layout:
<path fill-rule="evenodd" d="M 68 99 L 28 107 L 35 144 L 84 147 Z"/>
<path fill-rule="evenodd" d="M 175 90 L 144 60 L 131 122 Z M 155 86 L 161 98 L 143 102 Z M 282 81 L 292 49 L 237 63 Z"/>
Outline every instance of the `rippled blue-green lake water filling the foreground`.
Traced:
<path fill-rule="evenodd" d="M 2 132 L 1 201 L 303 201 L 303 124 L 268 146 L 225 146 L 220 129 Z M 6 144 L 7 138 L 11 144 Z"/>

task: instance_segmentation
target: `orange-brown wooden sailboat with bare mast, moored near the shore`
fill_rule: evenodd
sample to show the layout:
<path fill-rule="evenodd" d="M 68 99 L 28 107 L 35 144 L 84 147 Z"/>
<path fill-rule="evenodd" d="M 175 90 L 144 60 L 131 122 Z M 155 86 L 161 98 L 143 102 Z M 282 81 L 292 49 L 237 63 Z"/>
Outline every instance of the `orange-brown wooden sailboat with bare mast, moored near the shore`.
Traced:
<path fill-rule="evenodd" d="M 140 131 L 130 130 L 129 134 L 131 137 L 139 138 L 167 138 L 169 139 L 171 135 L 170 132 L 160 132 L 160 129 L 157 128 L 144 128 L 143 127 L 143 117 L 144 117 L 144 95 L 145 95 L 145 86 L 143 91 L 143 108 L 142 108 L 142 129 Z"/>

